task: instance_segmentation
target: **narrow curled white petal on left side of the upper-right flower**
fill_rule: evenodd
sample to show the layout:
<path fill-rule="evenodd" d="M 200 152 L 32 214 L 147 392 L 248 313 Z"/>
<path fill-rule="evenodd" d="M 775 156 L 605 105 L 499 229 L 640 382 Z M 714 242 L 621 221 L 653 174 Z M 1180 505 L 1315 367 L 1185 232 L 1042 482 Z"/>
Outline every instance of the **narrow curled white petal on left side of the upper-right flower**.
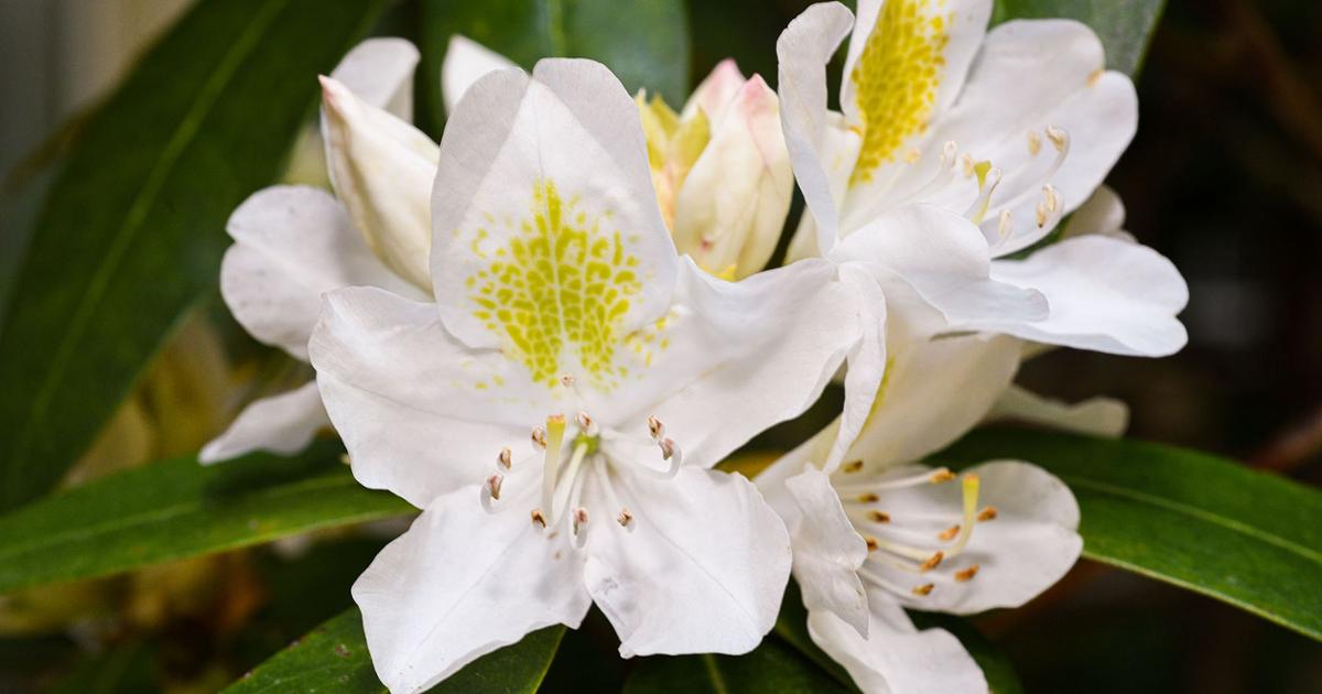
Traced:
<path fill-rule="evenodd" d="M 816 219 L 817 249 L 821 252 L 834 246 L 839 219 L 832 193 L 833 176 L 828 173 L 832 134 L 826 110 L 826 63 L 849 33 L 853 20 L 849 9 L 839 3 L 818 3 L 795 17 L 776 40 L 780 62 L 777 93 L 785 145 L 795 178 Z M 838 152 L 841 148 L 830 149 Z M 843 171 L 851 167 L 853 161 Z"/>

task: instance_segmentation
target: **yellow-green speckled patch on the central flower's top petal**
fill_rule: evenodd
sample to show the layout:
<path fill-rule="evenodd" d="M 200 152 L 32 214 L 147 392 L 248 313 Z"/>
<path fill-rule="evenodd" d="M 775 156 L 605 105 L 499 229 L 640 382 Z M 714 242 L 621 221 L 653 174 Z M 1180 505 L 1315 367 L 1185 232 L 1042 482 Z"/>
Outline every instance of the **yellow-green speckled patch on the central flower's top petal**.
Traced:
<path fill-rule="evenodd" d="M 539 181 L 530 218 L 505 246 L 484 252 L 488 233 L 479 229 L 472 249 L 492 262 L 468 278 L 468 296 L 473 316 L 505 341 L 534 381 L 554 387 L 572 367 L 609 390 L 628 375 L 615 353 L 624 344 L 631 301 L 642 289 L 639 259 L 627 252 L 619 230 L 604 231 L 602 219 L 575 208 L 554 182 Z M 578 367 L 564 364 L 572 358 Z"/>

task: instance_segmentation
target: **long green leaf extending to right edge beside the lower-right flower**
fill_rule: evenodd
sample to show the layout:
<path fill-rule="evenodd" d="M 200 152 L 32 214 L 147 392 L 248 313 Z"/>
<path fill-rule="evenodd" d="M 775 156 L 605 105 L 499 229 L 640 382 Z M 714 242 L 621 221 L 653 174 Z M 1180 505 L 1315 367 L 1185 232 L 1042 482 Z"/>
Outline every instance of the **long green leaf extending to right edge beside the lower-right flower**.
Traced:
<path fill-rule="evenodd" d="M 1206 453 L 982 430 L 935 456 L 1038 464 L 1079 500 L 1084 557 L 1322 640 L 1322 492 Z"/>

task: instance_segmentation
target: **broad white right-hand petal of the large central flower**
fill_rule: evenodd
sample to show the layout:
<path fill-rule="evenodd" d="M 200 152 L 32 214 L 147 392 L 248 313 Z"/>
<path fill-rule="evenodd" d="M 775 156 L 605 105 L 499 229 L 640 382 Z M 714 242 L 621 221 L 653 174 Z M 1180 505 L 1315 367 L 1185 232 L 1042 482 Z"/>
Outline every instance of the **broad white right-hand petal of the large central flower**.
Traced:
<path fill-rule="evenodd" d="M 685 260 L 652 361 L 609 407 L 654 415 L 686 465 L 711 467 L 806 410 L 858 340 L 857 297 L 825 260 L 722 282 Z"/>

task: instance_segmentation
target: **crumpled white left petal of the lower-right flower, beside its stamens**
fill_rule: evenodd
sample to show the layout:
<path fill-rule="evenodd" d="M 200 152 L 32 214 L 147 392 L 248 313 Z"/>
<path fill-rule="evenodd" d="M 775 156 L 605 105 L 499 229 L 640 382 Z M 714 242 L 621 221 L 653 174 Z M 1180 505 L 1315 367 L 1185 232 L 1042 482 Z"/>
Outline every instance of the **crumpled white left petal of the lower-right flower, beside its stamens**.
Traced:
<path fill-rule="evenodd" d="M 787 518 L 787 526 L 804 605 L 834 613 L 866 637 L 867 594 L 858 567 L 867 559 L 867 543 L 845 516 L 828 475 L 809 468 L 785 480 L 785 486 L 798 506 L 797 517 L 792 523 Z"/>

